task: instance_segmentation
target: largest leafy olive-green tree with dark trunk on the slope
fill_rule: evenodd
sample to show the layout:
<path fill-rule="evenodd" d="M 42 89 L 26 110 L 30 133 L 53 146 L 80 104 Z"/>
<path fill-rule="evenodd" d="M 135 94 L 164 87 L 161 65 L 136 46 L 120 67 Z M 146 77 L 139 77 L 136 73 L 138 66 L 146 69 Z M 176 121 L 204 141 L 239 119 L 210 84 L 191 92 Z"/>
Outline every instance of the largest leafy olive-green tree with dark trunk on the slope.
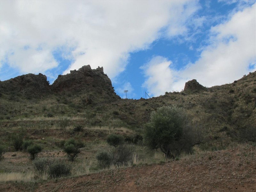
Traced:
<path fill-rule="evenodd" d="M 160 148 L 166 158 L 174 158 L 172 145 L 183 136 L 187 126 L 187 117 L 182 108 L 176 106 L 161 107 L 153 111 L 145 125 L 144 143 L 150 149 Z"/>

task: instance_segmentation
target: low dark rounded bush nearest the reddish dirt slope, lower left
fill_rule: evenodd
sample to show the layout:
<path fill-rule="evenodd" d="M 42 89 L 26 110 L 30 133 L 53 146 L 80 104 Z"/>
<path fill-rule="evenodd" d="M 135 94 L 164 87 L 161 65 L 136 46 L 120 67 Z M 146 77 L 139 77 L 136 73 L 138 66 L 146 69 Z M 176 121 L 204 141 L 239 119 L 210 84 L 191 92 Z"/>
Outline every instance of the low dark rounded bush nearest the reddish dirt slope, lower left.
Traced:
<path fill-rule="evenodd" d="M 62 162 L 54 163 L 49 167 L 50 175 L 53 178 L 68 176 L 70 175 L 70 170 L 70 166 Z"/>

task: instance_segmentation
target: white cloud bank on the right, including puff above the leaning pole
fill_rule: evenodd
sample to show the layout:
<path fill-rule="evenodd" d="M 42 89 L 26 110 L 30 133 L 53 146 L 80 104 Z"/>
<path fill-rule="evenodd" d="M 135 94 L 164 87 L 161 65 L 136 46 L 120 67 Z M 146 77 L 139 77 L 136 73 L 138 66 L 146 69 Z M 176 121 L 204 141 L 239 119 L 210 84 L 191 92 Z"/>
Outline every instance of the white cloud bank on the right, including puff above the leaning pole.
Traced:
<path fill-rule="evenodd" d="M 148 79 L 142 85 L 154 96 L 184 88 L 188 80 L 207 87 L 232 83 L 256 70 L 256 4 L 233 13 L 230 20 L 211 28 L 210 45 L 200 58 L 180 71 L 170 68 L 171 61 L 155 57 L 141 67 Z M 250 67 L 254 66 L 253 69 Z"/>

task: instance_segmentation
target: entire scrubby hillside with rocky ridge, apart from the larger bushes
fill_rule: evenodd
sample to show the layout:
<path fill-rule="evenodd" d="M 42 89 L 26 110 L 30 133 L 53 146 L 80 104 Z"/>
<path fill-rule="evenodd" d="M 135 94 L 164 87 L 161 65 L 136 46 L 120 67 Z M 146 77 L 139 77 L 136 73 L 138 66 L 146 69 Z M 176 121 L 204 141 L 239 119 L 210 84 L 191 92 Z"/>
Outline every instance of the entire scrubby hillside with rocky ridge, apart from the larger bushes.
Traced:
<path fill-rule="evenodd" d="M 52 85 L 43 74 L 0 81 L 0 190 L 255 190 L 256 72 L 221 86 L 200 83 L 193 79 L 182 92 L 132 100 L 116 95 L 103 68 L 88 65 Z M 190 137 L 198 141 L 191 154 L 175 159 L 143 144 L 150 113 L 170 105 L 185 109 Z M 112 133 L 124 136 L 132 156 L 126 164 L 102 168 L 97 154 L 114 150 L 106 141 Z M 47 159 L 43 173 L 26 149 L 15 150 L 13 138 L 43 148 L 36 155 Z M 74 162 L 63 149 L 69 139 L 81 144 Z M 48 161 L 64 162 L 70 175 L 51 178 Z"/>

